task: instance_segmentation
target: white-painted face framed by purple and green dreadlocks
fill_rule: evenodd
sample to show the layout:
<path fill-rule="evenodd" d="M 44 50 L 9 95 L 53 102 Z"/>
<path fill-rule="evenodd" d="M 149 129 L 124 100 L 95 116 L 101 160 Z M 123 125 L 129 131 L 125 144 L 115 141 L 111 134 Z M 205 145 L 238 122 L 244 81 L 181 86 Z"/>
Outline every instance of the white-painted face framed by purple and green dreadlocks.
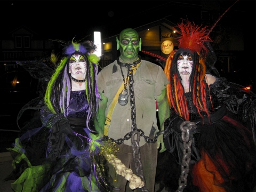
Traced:
<path fill-rule="evenodd" d="M 78 79 L 85 79 L 86 61 L 81 54 L 74 54 L 69 60 L 69 73 L 71 76 Z"/>

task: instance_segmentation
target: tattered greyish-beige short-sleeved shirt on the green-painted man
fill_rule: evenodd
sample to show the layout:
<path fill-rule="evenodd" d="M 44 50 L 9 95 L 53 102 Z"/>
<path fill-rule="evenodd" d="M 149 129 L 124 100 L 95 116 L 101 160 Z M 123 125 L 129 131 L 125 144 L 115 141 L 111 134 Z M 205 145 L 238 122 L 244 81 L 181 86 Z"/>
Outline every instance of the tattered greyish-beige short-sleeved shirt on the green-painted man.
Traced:
<path fill-rule="evenodd" d="M 122 70 L 126 79 L 127 68 L 122 67 Z M 169 81 L 160 66 L 145 60 L 141 61 L 133 79 L 137 129 L 141 129 L 146 136 L 153 138 L 155 132 L 159 131 L 155 99 L 166 88 Z M 103 68 L 98 74 L 99 92 L 104 91 L 105 97 L 108 98 L 106 116 L 119 87 L 123 83 L 121 69 L 116 61 Z M 117 102 L 111 117 L 108 137 L 115 140 L 123 139 L 124 135 L 132 130 L 129 85 L 127 85 L 127 90 L 129 102 L 125 106 L 121 106 Z M 117 94 L 119 95 L 119 93 Z M 140 146 L 145 143 L 146 141 L 141 137 Z M 131 140 L 124 140 L 124 144 L 131 146 Z"/>

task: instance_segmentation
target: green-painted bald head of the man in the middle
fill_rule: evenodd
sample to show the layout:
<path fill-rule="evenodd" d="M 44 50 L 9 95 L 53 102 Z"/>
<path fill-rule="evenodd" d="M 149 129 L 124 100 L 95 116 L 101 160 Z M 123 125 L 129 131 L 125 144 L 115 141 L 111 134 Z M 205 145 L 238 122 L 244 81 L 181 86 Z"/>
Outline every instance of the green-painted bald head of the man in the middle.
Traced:
<path fill-rule="evenodd" d="M 137 31 L 131 28 L 124 29 L 119 38 L 120 42 L 117 44 L 119 43 L 121 58 L 124 61 L 137 60 L 141 46 L 141 39 L 139 39 Z"/>

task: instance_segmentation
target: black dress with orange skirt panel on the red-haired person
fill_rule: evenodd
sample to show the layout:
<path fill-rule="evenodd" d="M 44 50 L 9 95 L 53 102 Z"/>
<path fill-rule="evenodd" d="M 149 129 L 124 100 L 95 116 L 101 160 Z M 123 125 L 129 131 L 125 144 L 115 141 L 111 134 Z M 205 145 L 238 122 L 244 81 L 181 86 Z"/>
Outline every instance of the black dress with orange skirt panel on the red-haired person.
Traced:
<path fill-rule="evenodd" d="M 256 186 L 255 94 L 222 77 L 209 87 L 210 122 L 206 114 L 203 113 L 203 119 L 199 116 L 190 93 L 185 93 L 191 121 L 199 123 L 193 134 L 190 171 L 183 191 L 253 191 Z M 170 134 L 164 133 L 165 142 L 169 137 L 165 146 L 168 151 L 158 154 L 158 192 L 163 188 L 176 191 L 179 187 L 183 157 L 179 125 L 182 121 L 184 119 L 175 114 L 165 121 L 165 130 Z"/>

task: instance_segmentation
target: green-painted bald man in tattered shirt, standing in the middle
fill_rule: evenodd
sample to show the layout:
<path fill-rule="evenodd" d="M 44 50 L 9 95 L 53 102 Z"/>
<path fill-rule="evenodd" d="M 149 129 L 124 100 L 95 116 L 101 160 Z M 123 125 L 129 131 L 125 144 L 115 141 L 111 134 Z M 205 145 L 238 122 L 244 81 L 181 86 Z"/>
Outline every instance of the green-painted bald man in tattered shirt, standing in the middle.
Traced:
<path fill-rule="evenodd" d="M 102 100 L 95 129 L 102 136 L 123 141 L 118 146 L 119 151 L 116 156 L 136 174 L 131 137 L 127 137 L 134 130 L 132 111 L 135 111 L 137 129 L 143 133 L 143 136 L 153 140 L 157 132 L 164 130 L 164 121 L 170 116 L 166 97 L 166 84 L 169 81 L 160 66 L 141 59 L 139 55 L 141 39 L 136 30 L 132 28 L 122 30 L 119 40 L 116 38 L 116 41 L 120 56 L 103 68 L 97 77 L 97 86 Z M 131 69 L 133 72 L 129 75 Z M 133 79 L 132 85 L 129 84 L 130 78 Z M 118 100 L 124 90 L 128 95 L 126 105 Z M 134 97 L 132 102 L 135 101 L 135 105 L 130 103 L 132 95 Z M 157 126 L 156 102 L 160 127 Z M 159 152 L 165 151 L 163 134 L 158 136 L 156 142 L 146 142 L 142 136 L 140 138 L 137 136 L 137 141 L 139 141 L 141 165 L 145 177 L 143 189 L 154 191 L 158 148 L 161 146 Z M 111 185 L 120 188 L 120 191 L 131 191 L 129 185 L 126 186 L 127 180 L 116 174 L 111 165 L 109 168 Z M 140 189 L 134 191 L 137 190 L 140 191 Z"/>

